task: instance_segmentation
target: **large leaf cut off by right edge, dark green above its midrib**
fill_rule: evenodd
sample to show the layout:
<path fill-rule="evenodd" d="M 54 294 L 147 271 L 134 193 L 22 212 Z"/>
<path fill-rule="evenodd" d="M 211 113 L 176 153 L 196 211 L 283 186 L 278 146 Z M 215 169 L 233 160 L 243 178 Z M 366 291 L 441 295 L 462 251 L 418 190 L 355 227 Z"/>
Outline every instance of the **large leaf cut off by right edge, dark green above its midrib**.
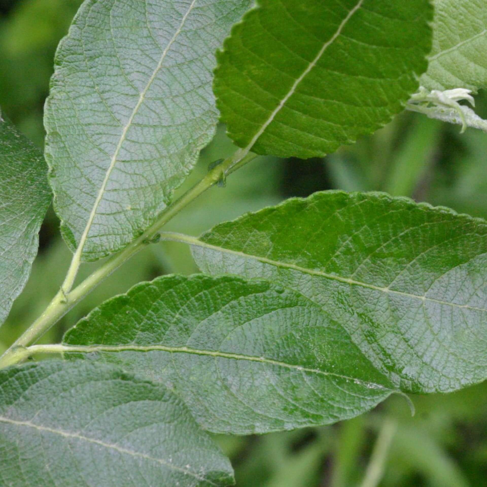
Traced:
<path fill-rule="evenodd" d="M 385 193 L 327 191 L 217 225 L 193 249 L 210 273 L 295 289 L 404 392 L 487 377 L 487 223 Z"/>

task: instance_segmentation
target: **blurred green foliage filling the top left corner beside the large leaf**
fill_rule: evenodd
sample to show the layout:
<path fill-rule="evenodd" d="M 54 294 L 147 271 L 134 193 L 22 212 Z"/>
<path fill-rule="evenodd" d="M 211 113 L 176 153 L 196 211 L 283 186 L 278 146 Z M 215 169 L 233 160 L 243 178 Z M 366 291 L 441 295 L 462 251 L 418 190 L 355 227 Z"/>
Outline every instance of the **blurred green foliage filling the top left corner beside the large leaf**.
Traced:
<path fill-rule="evenodd" d="M 54 53 L 82 0 L 0 2 L 0 103 L 29 138 L 42 144 L 42 109 Z"/>

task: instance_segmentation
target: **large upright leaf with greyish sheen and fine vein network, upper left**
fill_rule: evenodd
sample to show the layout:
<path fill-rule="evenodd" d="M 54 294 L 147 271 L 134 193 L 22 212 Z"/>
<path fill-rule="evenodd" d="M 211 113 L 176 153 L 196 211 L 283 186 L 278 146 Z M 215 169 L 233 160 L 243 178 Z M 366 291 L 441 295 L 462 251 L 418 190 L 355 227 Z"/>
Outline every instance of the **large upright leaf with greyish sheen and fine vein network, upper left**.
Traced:
<path fill-rule="evenodd" d="M 250 0 L 87 0 L 59 44 L 46 158 L 70 247 L 127 245 L 171 199 L 218 119 L 214 51 Z"/>

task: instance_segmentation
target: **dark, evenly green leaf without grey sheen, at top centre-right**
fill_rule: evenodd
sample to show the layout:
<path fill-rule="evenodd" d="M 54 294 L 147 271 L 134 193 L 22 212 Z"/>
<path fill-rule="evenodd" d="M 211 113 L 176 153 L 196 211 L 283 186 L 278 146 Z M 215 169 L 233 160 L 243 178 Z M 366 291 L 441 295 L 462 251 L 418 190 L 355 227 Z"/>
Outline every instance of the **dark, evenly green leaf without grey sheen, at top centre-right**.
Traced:
<path fill-rule="evenodd" d="M 416 91 L 431 18 L 428 0 L 259 0 L 217 56 L 230 137 L 308 158 L 372 133 Z"/>

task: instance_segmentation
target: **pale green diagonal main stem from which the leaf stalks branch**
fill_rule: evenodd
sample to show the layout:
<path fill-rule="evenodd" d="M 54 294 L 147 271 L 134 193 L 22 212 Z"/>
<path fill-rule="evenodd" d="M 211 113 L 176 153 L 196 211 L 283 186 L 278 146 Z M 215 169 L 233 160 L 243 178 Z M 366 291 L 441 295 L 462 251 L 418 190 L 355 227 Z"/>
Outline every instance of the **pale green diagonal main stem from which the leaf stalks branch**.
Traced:
<path fill-rule="evenodd" d="M 60 289 L 53 300 L 49 303 L 45 311 L 32 325 L 19 337 L 19 339 L 0 357 L 0 369 L 18 363 L 26 358 L 25 347 L 34 343 L 49 328 L 51 328 L 60 318 L 62 318 L 79 301 L 85 298 L 93 289 L 120 265 L 126 262 L 139 250 L 150 243 L 158 234 L 159 230 L 166 225 L 169 220 L 179 213 L 184 207 L 214 186 L 223 177 L 234 170 L 244 166 L 257 157 L 256 154 L 248 153 L 241 158 L 241 152 L 237 151 L 232 157 L 210 170 L 206 176 L 195 186 L 189 189 L 183 196 L 169 205 L 159 216 L 157 221 L 151 225 L 140 237 L 133 240 L 124 250 L 113 255 L 103 266 L 99 267 L 85 281 L 81 282 L 73 290 L 66 293 Z M 74 277 L 70 279 L 74 280 Z"/>

